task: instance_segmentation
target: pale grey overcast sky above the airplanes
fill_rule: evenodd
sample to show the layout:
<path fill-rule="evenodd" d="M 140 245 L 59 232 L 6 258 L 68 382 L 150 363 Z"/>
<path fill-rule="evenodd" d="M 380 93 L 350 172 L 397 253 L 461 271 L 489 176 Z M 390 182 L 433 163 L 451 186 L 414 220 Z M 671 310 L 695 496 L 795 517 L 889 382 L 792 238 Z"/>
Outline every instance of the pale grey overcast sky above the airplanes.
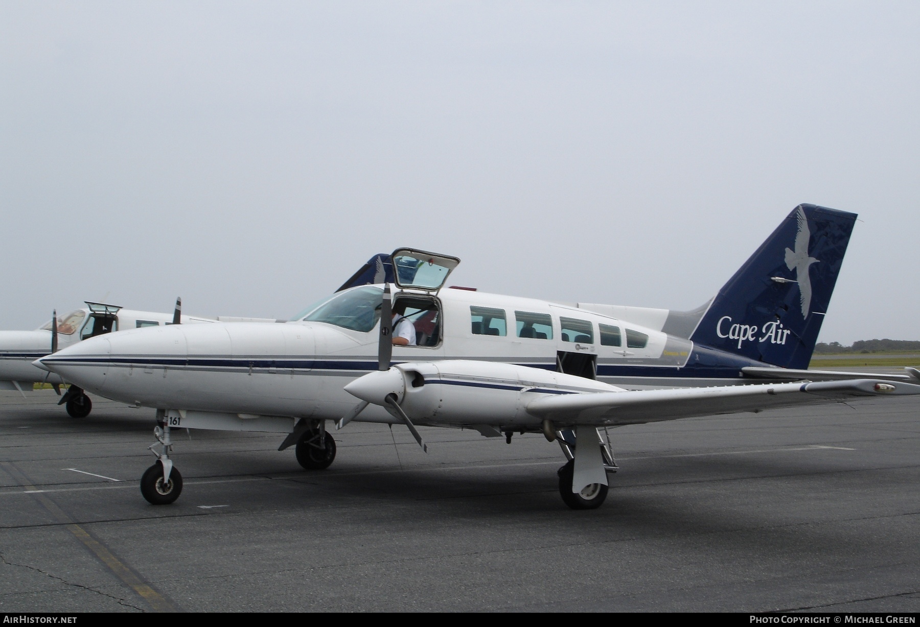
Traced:
<path fill-rule="evenodd" d="M 286 318 L 377 252 L 690 309 L 859 213 L 823 341 L 920 339 L 920 3 L 0 2 L 0 328 Z"/>

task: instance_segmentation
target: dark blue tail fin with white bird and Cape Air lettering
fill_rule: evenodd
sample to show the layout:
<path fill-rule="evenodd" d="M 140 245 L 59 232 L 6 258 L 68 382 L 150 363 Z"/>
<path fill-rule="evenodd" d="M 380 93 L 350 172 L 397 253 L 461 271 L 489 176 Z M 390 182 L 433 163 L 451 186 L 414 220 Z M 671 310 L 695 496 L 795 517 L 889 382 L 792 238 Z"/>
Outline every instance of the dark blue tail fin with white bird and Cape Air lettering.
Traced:
<path fill-rule="evenodd" d="M 783 368 L 808 368 L 856 219 L 856 213 L 796 207 L 719 290 L 690 339 Z"/>

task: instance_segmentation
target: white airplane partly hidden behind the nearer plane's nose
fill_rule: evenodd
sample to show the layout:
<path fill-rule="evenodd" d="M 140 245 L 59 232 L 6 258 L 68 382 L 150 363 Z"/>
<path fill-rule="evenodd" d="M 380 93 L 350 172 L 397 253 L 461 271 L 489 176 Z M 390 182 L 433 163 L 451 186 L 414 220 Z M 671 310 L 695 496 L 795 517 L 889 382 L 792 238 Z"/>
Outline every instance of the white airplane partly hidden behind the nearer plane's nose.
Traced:
<path fill-rule="evenodd" d="M 36 368 L 32 362 L 68 348 L 90 337 L 103 336 L 120 328 L 147 328 L 159 325 L 178 325 L 213 322 L 275 322 L 260 318 L 203 318 L 182 314 L 182 299 L 176 299 L 172 314 L 141 312 L 124 309 L 119 305 L 102 302 L 86 302 L 86 307 L 58 318 L 52 314 L 51 321 L 34 331 L 0 331 L 0 390 L 31 390 L 34 383 L 51 383 L 61 395 L 63 380 L 57 374 Z M 71 385 L 61 397 L 58 405 L 64 405 L 67 413 L 75 418 L 85 418 L 92 411 L 93 404 L 80 387 Z"/>

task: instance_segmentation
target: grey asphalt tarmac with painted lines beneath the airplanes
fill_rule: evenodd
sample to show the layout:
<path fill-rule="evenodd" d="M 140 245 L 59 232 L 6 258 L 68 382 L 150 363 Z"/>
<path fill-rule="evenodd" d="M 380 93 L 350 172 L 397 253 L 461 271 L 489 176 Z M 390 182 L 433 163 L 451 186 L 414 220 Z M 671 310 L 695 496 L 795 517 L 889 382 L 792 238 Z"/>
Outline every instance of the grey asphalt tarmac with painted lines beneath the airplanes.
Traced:
<path fill-rule="evenodd" d="M 879 369 L 875 369 L 879 370 Z M 918 611 L 920 398 L 612 429 L 603 507 L 541 435 L 351 423 L 306 472 L 277 434 L 0 393 L 0 612 Z"/>

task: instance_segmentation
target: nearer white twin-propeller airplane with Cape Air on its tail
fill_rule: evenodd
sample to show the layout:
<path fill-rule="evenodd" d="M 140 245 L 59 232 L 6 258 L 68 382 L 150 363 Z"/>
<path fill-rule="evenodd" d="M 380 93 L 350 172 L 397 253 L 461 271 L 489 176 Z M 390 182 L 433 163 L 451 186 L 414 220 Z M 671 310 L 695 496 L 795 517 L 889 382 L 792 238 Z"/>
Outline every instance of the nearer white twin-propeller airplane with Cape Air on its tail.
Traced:
<path fill-rule="evenodd" d="M 918 371 L 805 370 L 855 220 L 800 205 L 693 312 L 443 289 L 459 259 L 405 248 L 375 257 L 285 325 L 128 331 L 36 364 L 156 408 L 157 461 L 141 480 L 154 504 L 182 489 L 171 428 L 285 433 L 279 450 L 295 445 L 297 461 L 319 470 L 336 455 L 327 421 L 357 420 L 402 423 L 424 450 L 417 425 L 509 443 L 515 432 L 542 432 L 568 460 L 562 499 L 593 508 L 615 470 L 602 429 L 920 393 Z"/>

